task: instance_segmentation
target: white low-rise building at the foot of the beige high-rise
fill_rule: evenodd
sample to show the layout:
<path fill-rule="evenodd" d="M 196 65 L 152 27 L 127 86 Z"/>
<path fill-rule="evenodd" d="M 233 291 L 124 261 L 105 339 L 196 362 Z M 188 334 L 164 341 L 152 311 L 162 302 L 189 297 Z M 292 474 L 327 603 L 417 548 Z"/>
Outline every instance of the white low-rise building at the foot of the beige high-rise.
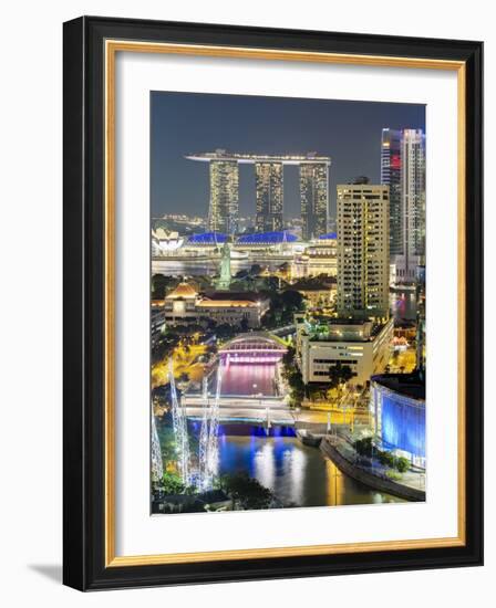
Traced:
<path fill-rule="evenodd" d="M 391 354 L 393 321 L 297 315 L 297 360 L 304 384 L 330 381 L 330 368 L 349 366 L 353 384 L 364 385 L 384 371 Z"/>

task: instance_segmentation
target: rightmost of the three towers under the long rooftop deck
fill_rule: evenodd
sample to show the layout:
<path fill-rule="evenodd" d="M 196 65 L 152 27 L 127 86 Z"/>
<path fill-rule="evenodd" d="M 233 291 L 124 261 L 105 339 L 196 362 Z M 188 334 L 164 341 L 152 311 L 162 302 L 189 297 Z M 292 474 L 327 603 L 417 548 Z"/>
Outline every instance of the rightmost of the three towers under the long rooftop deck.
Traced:
<path fill-rule="evenodd" d="M 301 235 L 304 241 L 328 231 L 329 165 L 330 161 L 300 164 Z"/>

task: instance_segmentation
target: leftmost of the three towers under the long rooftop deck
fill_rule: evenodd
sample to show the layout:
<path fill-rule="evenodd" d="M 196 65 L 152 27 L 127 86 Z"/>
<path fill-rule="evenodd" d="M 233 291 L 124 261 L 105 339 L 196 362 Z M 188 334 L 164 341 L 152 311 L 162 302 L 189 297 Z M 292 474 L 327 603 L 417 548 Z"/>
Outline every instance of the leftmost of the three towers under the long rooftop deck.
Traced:
<path fill-rule="evenodd" d="M 234 234 L 238 230 L 239 170 L 236 160 L 210 161 L 210 207 L 208 228 Z"/>

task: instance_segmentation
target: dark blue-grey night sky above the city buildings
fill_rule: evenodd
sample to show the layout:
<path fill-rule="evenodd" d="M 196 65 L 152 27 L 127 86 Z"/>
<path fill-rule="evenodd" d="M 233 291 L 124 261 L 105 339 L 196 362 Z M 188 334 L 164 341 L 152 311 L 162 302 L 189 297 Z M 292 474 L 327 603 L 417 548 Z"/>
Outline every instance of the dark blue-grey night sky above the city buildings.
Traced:
<path fill-rule="evenodd" d="M 425 129 L 425 106 L 209 95 L 151 94 L 152 217 L 206 216 L 208 164 L 184 155 L 225 148 L 258 154 L 317 151 L 331 157 L 329 199 L 334 217 L 335 186 L 355 176 L 380 180 L 381 129 Z M 255 168 L 239 168 L 240 214 L 255 214 Z M 285 216 L 299 214 L 298 167 L 285 168 Z"/>

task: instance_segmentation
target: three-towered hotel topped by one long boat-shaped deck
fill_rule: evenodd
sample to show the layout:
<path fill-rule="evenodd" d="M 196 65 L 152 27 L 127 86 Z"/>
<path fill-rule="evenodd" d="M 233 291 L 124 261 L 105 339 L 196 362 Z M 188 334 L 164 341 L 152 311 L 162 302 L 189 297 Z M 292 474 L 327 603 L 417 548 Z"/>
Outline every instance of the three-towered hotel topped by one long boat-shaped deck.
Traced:
<path fill-rule="evenodd" d="M 302 239 L 326 234 L 329 209 L 329 167 L 331 159 L 314 153 L 306 155 L 256 155 L 228 153 L 192 154 L 190 160 L 209 164 L 210 206 L 208 228 L 234 234 L 238 231 L 239 164 L 255 165 L 256 230 L 269 232 L 283 229 L 283 166 L 298 165 Z"/>

